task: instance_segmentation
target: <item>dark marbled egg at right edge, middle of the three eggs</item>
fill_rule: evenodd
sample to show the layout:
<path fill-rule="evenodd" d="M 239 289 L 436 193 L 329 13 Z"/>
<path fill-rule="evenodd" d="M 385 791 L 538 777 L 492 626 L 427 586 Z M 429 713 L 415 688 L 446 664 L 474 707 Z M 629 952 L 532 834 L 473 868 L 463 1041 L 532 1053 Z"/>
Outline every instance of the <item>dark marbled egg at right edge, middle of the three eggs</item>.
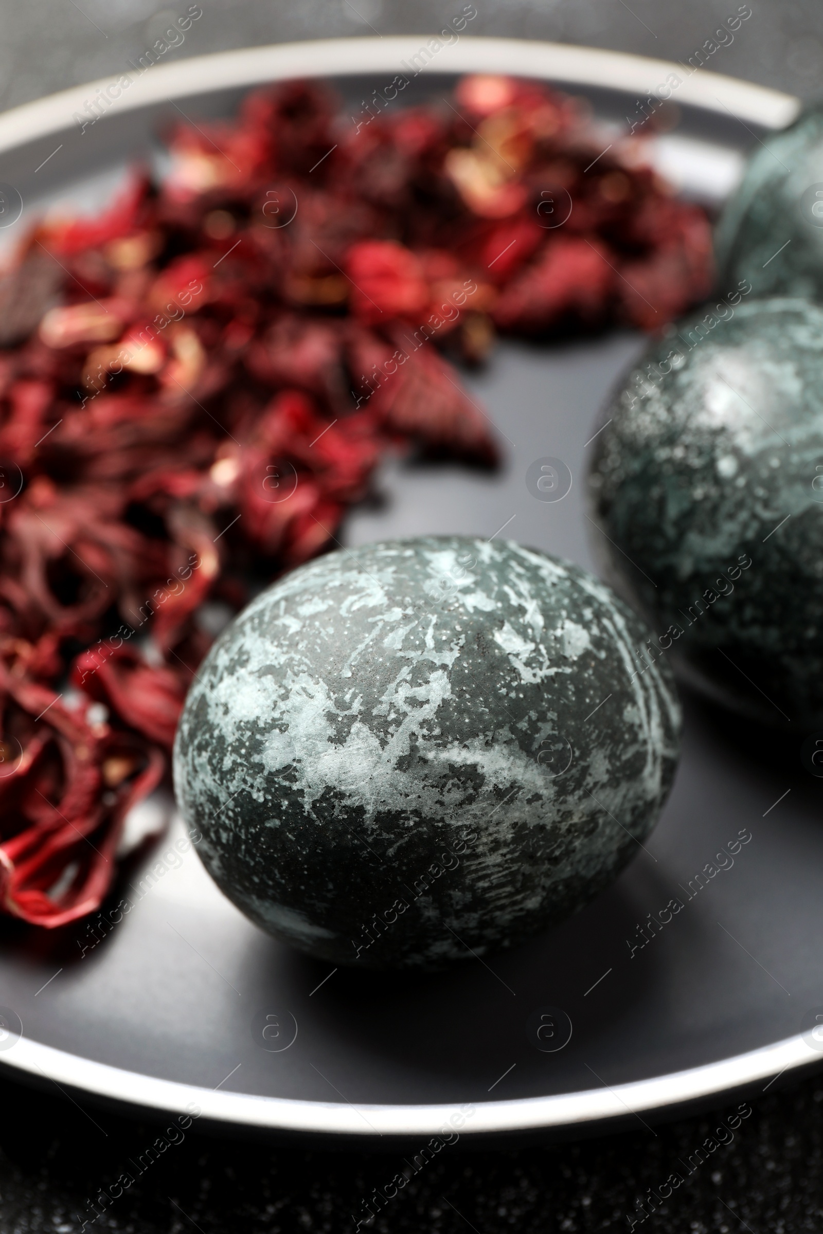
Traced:
<path fill-rule="evenodd" d="M 610 580 L 645 659 L 792 731 L 823 723 L 823 313 L 698 315 L 605 413 L 590 476 Z"/>

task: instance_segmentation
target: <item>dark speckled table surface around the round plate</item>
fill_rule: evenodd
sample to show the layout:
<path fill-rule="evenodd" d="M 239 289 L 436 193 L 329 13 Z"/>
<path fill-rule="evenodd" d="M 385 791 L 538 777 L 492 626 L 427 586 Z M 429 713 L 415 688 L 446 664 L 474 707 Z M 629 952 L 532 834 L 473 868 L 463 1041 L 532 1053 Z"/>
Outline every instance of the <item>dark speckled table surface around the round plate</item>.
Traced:
<path fill-rule="evenodd" d="M 819 0 L 750 0 L 753 16 L 717 69 L 804 99 L 823 75 Z M 164 0 L 0 0 L 0 107 L 101 77 L 139 56 L 174 12 Z M 175 56 L 254 43 L 431 32 L 449 0 L 201 0 Z M 734 0 L 476 0 L 474 33 L 549 38 L 686 60 Z M 164 27 L 163 27 L 164 28 Z M 554 1146 L 449 1148 L 369 1229 L 492 1234 L 628 1230 L 701 1144 L 706 1160 L 637 1229 L 795 1234 L 823 1229 L 823 1077 L 779 1079 L 751 1097 L 654 1129 Z M 75 1234 L 162 1130 L 81 1109 L 57 1088 L 0 1082 L 0 1234 Z M 724 1143 L 721 1143 L 724 1141 Z M 94 1227 L 133 1234 L 275 1234 L 354 1229 L 352 1213 L 397 1169 L 385 1155 L 271 1146 L 196 1133 L 169 1146 Z M 664 1191 L 665 1191 L 664 1186 Z"/>

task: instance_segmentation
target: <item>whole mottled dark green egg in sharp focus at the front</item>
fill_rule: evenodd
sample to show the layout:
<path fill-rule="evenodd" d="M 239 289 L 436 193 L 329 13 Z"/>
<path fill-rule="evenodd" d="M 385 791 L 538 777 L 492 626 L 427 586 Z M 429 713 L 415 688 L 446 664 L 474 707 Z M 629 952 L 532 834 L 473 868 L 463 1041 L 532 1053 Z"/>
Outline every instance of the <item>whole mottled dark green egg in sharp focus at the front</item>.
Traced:
<path fill-rule="evenodd" d="M 223 632 L 178 801 L 225 893 L 332 964 L 437 967 L 580 908 L 674 775 L 669 670 L 576 566 L 428 537 L 329 553 Z"/>

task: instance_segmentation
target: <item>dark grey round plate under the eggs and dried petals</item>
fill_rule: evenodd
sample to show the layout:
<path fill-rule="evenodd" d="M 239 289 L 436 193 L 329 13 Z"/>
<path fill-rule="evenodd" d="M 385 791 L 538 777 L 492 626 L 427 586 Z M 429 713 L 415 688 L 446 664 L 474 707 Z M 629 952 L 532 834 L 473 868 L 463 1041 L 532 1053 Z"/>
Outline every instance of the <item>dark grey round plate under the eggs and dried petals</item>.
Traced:
<path fill-rule="evenodd" d="M 36 160 L 64 137 L 68 158 L 48 164 L 49 191 L 91 202 L 101 185 L 114 184 L 125 155 L 155 152 L 149 135 L 169 112 L 158 97 L 183 100 L 190 115 L 218 114 L 231 110 L 242 81 L 320 63 L 337 64 L 341 74 L 371 68 L 368 81 L 342 79 L 357 99 L 416 43 L 380 42 L 391 46 L 322 44 L 313 59 L 305 48 L 268 49 L 265 62 L 267 49 L 226 53 L 207 58 L 210 68 L 200 62 L 200 75 L 195 60 L 169 65 L 159 81 L 136 83 L 134 91 L 151 94 L 134 94 L 131 110 L 109 116 L 88 144 L 88 135 L 65 128 L 83 90 L 63 111 L 54 100 L 46 100 L 51 110 L 35 105 L 38 115 L 20 109 L 16 130 L 14 114 L 0 117 L 0 178 L 33 210 Z M 523 44 L 536 74 L 537 46 Z M 545 48 L 544 75 L 556 77 L 564 62 Z M 629 95 L 603 89 L 603 64 L 612 83 L 635 74 L 627 84 L 632 104 L 640 75 L 659 72 L 634 57 L 577 56 L 577 89 L 612 117 L 626 114 Z M 416 89 L 443 93 L 443 74 L 492 60 L 516 70 L 517 44 L 466 39 Z M 210 73 L 222 90 L 205 95 Z M 742 123 L 711 102 L 719 86 L 703 77 L 706 109 L 695 105 L 700 83 L 692 79 L 681 125 L 659 153 L 681 165 L 685 190 L 705 197 L 723 176 L 732 183 L 754 139 L 755 112 L 777 125 L 792 100 L 740 84 Z M 727 80 L 727 111 L 729 89 Z M 378 476 L 384 500 L 352 513 L 347 542 L 502 533 L 591 568 L 582 476 L 592 426 L 642 347 L 629 333 L 558 347 L 501 344 L 486 370 L 466 378 L 502 434 L 501 471 L 387 463 Z M 526 486 L 529 464 L 544 457 L 571 471 L 561 501 L 536 500 Z M 106 906 L 109 927 L 80 923 L 46 934 L 2 923 L 0 1062 L 101 1099 L 174 1111 L 195 1102 L 204 1117 L 247 1127 L 368 1138 L 444 1127 L 447 1134 L 458 1127 L 474 1135 L 568 1134 L 659 1117 L 814 1064 L 818 1043 L 801 1030 L 813 1027 L 823 1004 L 823 828 L 819 784 L 800 758 L 804 734 L 779 738 L 691 698 L 686 717 L 664 817 L 614 886 L 527 946 L 487 963 L 469 958 L 447 974 L 332 971 L 290 951 L 228 903 L 190 847 L 174 848 L 176 840 L 186 848 L 174 822 L 125 866 Z M 121 898 L 133 906 L 127 913 L 116 908 Z M 659 917 L 671 900 L 682 908 L 640 946 L 648 914 Z"/>

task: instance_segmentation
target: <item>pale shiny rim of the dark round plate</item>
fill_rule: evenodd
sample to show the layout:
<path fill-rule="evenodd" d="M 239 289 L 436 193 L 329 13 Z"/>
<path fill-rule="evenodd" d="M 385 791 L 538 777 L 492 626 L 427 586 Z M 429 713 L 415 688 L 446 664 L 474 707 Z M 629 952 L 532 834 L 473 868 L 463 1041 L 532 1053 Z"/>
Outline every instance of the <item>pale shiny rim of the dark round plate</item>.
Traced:
<path fill-rule="evenodd" d="M 383 38 L 328 38 L 249 47 L 157 64 L 107 111 L 115 115 L 174 97 L 221 89 L 253 86 L 297 77 L 355 75 L 401 72 L 437 35 Z M 684 65 L 624 52 L 517 38 L 460 36 L 445 44 L 423 72 L 511 73 L 568 85 L 610 88 L 648 95 L 670 73 L 681 79 L 676 97 L 708 111 L 730 114 L 764 128 L 782 128 L 801 104 L 792 95 L 705 69 L 684 79 Z M 130 73 L 130 75 L 131 75 Z M 0 154 L 74 123 L 85 101 L 121 74 L 23 104 L 0 115 Z M 95 1062 L 21 1037 L 0 1055 L 0 1065 L 131 1106 L 185 1113 L 192 1104 L 201 1116 L 244 1127 L 326 1135 L 406 1137 L 500 1134 L 608 1123 L 627 1114 L 651 1113 L 671 1106 L 743 1090 L 767 1076 L 782 1075 L 816 1061 L 802 1034 L 744 1054 L 647 1080 L 548 1097 L 464 1104 L 349 1104 L 283 1097 L 262 1097 L 202 1088 Z M 466 1114 L 466 1109 L 471 1113 Z M 461 1119 L 461 1122 L 455 1122 Z"/>

